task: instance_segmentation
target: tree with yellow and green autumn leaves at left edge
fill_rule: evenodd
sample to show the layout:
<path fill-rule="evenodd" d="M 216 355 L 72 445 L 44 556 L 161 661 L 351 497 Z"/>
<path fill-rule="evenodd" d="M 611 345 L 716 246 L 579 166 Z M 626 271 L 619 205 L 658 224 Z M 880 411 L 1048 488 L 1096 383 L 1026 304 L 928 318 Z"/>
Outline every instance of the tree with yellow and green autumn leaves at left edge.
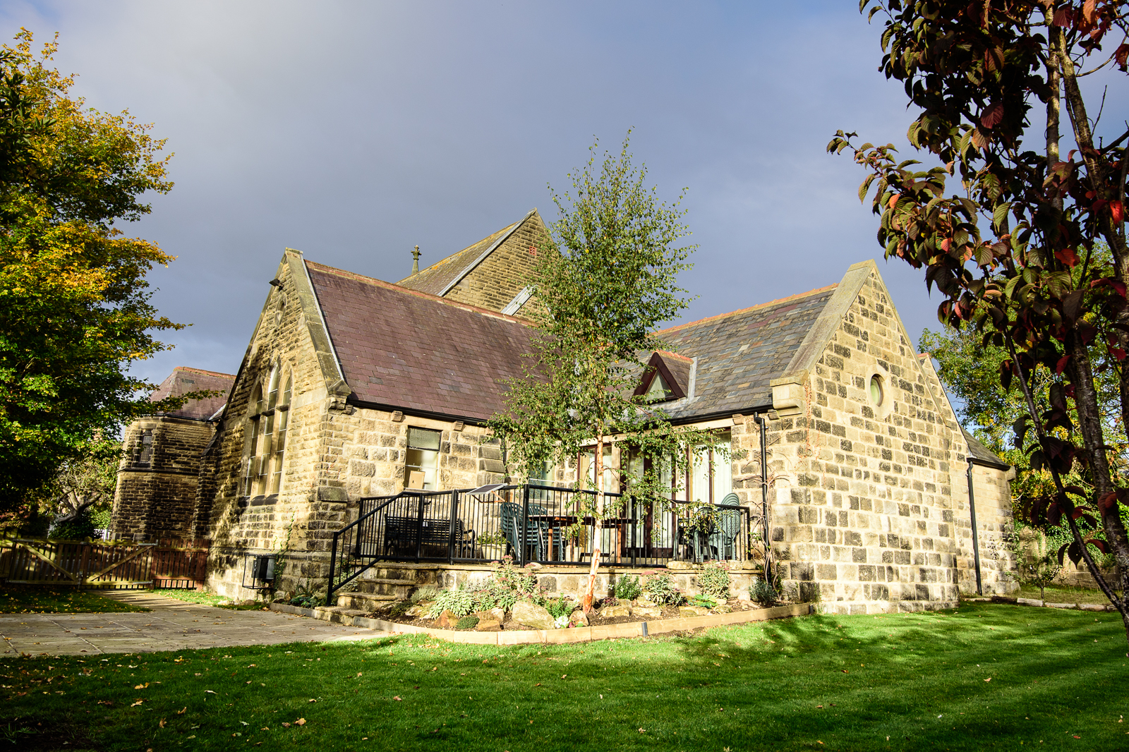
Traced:
<path fill-rule="evenodd" d="M 168 256 L 116 225 L 167 193 L 164 140 L 128 112 L 71 95 L 21 29 L 0 50 L 0 511 L 19 506 L 90 441 L 154 405 L 126 373 L 180 329 L 150 304 L 146 273 Z"/>

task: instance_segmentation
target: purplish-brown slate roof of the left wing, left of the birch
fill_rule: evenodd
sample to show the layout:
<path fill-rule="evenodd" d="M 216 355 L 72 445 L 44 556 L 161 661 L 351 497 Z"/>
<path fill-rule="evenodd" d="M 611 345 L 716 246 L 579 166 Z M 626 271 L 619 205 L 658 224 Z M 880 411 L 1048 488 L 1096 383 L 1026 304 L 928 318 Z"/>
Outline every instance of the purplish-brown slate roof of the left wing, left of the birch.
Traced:
<path fill-rule="evenodd" d="M 530 349 L 518 320 L 305 263 L 351 400 L 474 421 L 502 409 L 498 382 Z"/>

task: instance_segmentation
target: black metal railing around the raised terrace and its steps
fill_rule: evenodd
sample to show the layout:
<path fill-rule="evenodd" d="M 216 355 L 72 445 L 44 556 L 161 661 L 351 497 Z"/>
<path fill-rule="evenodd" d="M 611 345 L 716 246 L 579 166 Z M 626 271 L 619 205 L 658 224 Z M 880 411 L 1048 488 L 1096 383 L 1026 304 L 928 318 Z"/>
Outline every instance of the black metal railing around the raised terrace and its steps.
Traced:
<path fill-rule="evenodd" d="M 333 593 L 380 561 L 485 562 L 524 566 L 601 563 L 654 567 L 668 561 L 745 560 L 753 521 L 738 504 L 706 505 L 597 495 L 526 483 L 472 493 L 405 490 L 365 498 L 358 518 L 333 534 Z"/>

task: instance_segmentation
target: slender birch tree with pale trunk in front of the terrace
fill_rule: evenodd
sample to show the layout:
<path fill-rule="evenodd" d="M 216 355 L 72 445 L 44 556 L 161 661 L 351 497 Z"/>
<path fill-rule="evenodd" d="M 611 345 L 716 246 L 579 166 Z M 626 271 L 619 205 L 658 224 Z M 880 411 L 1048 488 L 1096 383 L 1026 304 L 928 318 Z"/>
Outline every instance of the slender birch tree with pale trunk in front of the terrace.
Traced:
<path fill-rule="evenodd" d="M 620 511 L 609 499 L 604 447 L 612 441 L 636 456 L 653 457 L 644 467 L 621 462 L 612 473 L 621 488 L 660 504 L 672 493 L 662 469 L 675 478 L 694 461 L 686 447 L 714 446 L 709 431 L 673 427 L 659 405 L 633 392 L 642 375 L 641 353 L 666 348 L 651 332 L 686 308 L 690 298 L 677 276 L 690 268 L 697 247 L 680 208 L 658 200 L 646 185 L 646 167 L 634 167 L 630 131 L 618 155 L 605 152 L 597 165 L 598 141 L 581 168 L 569 173 L 572 191 L 550 193 L 560 218 L 551 237 L 535 248 L 531 283 L 536 287 L 531 318 L 533 351 L 525 374 L 508 382 L 506 411 L 491 426 L 504 438 L 519 475 L 543 463 L 577 464 L 577 488 L 594 495 L 590 508 L 578 509 L 598 524 Z M 594 472 L 581 476 L 577 458 L 594 447 Z M 675 488 L 677 490 L 677 488 Z M 592 607 L 602 552 L 594 541 L 588 585 L 581 605 Z"/>

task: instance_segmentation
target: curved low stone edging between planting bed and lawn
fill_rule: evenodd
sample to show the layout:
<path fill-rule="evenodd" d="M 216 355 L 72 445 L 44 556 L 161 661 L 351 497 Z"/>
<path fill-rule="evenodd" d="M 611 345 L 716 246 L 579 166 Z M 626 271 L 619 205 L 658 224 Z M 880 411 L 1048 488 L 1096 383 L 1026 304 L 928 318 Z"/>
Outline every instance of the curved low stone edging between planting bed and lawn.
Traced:
<path fill-rule="evenodd" d="M 723 624 L 739 624 L 749 621 L 767 621 L 787 617 L 806 617 L 815 613 L 815 604 L 796 603 L 793 605 L 755 609 L 753 611 L 735 611 L 733 613 L 709 614 L 706 617 L 688 617 L 685 619 L 659 619 L 656 621 L 632 621 L 623 624 L 605 624 L 603 627 L 578 627 L 576 629 L 528 629 L 500 632 L 455 631 L 450 629 L 429 629 L 399 624 L 383 619 L 369 617 L 352 617 L 334 611 L 315 611 L 285 603 L 272 603 L 271 611 L 292 613 L 298 617 L 312 617 L 322 621 L 333 621 L 348 627 L 360 627 L 394 635 L 422 633 L 431 635 L 450 642 L 472 642 L 475 645 L 525 645 L 530 642 L 590 642 L 616 637 L 646 637 L 662 632 L 675 632 L 703 627 L 720 627 Z"/>

